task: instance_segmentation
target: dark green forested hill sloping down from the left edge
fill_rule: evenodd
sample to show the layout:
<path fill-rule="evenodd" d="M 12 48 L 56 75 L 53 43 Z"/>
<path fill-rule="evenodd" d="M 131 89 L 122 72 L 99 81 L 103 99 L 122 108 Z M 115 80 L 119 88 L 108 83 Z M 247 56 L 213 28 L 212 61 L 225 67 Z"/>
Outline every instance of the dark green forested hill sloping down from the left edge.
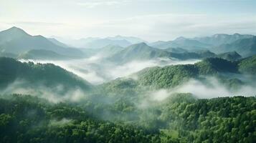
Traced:
<path fill-rule="evenodd" d="M 91 85 L 70 71 L 54 64 L 22 63 L 15 59 L 0 57 L 0 87 L 7 87 L 12 83 L 22 83 L 23 87 L 56 88 L 63 91 L 74 89 L 90 89 Z"/>

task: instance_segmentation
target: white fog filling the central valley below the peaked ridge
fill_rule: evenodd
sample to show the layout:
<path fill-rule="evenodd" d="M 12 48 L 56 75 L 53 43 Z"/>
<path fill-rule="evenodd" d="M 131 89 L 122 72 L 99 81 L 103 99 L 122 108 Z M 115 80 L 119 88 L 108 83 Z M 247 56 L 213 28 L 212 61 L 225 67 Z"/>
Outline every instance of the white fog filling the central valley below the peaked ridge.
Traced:
<path fill-rule="evenodd" d="M 141 71 L 146 67 L 152 66 L 167 66 L 175 64 L 194 64 L 199 59 L 180 61 L 176 59 L 151 59 L 146 61 L 130 61 L 125 64 L 116 64 L 108 61 L 102 56 L 92 56 L 87 59 L 72 59 L 64 61 L 50 61 L 50 60 L 24 60 L 22 62 L 32 61 L 34 63 L 52 63 L 61 66 L 67 71 L 77 74 L 82 79 L 87 80 L 91 84 L 102 84 L 118 77 L 126 77 L 137 71 Z"/>

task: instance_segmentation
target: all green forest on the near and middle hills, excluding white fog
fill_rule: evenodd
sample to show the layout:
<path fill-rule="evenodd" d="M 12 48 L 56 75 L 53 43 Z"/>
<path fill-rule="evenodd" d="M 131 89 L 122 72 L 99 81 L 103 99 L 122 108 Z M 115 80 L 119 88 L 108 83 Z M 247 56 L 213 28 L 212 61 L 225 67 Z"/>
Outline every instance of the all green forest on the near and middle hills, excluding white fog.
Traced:
<path fill-rule="evenodd" d="M 254 61 L 255 56 L 239 61 L 209 58 L 153 67 L 131 76 L 137 79 L 93 87 L 53 64 L 0 58 L 2 88 L 24 79 L 24 87 L 50 89 L 62 84 L 71 97 L 76 95 L 68 91 L 76 87 L 87 91 L 75 102 L 58 104 L 47 97 L 1 95 L 0 142 L 254 142 L 255 97 L 196 99 L 171 94 L 161 101 L 152 99 L 152 89 L 172 89 L 209 75 L 229 87 L 245 84 L 233 74 L 255 75 Z"/>

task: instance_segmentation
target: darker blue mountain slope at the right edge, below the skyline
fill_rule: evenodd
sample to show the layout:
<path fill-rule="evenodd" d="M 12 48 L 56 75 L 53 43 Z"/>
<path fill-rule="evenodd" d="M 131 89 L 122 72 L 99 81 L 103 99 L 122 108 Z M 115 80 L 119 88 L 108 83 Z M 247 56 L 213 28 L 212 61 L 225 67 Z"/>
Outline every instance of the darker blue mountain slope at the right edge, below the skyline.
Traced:
<path fill-rule="evenodd" d="M 222 44 L 211 49 L 216 53 L 237 51 L 243 57 L 253 56 L 256 54 L 256 36 L 248 39 L 239 39 L 231 44 Z"/>

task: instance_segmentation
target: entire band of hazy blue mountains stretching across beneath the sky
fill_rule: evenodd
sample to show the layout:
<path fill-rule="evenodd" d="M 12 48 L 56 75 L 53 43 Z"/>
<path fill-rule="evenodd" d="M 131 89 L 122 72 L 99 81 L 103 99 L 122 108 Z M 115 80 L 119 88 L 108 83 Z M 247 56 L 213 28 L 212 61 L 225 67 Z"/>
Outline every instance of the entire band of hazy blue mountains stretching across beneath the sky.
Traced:
<path fill-rule="evenodd" d="M 255 36 L 249 34 L 215 34 L 192 39 L 181 36 L 174 41 L 148 43 L 133 36 L 118 35 L 103 39 L 90 37 L 77 40 L 76 44 L 84 47 L 79 49 L 72 48 L 68 46 L 69 44 L 63 44 L 54 38 L 32 36 L 22 29 L 12 27 L 0 31 L 0 56 L 57 60 L 77 59 L 100 54 L 112 61 L 123 63 L 161 57 L 202 59 L 217 56 L 217 54 L 225 59 L 239 59 L 239 56 L 247 57 L 256 54 L 255 39 Z M 235 53 L 230 53 L 233 51 Z"/>

